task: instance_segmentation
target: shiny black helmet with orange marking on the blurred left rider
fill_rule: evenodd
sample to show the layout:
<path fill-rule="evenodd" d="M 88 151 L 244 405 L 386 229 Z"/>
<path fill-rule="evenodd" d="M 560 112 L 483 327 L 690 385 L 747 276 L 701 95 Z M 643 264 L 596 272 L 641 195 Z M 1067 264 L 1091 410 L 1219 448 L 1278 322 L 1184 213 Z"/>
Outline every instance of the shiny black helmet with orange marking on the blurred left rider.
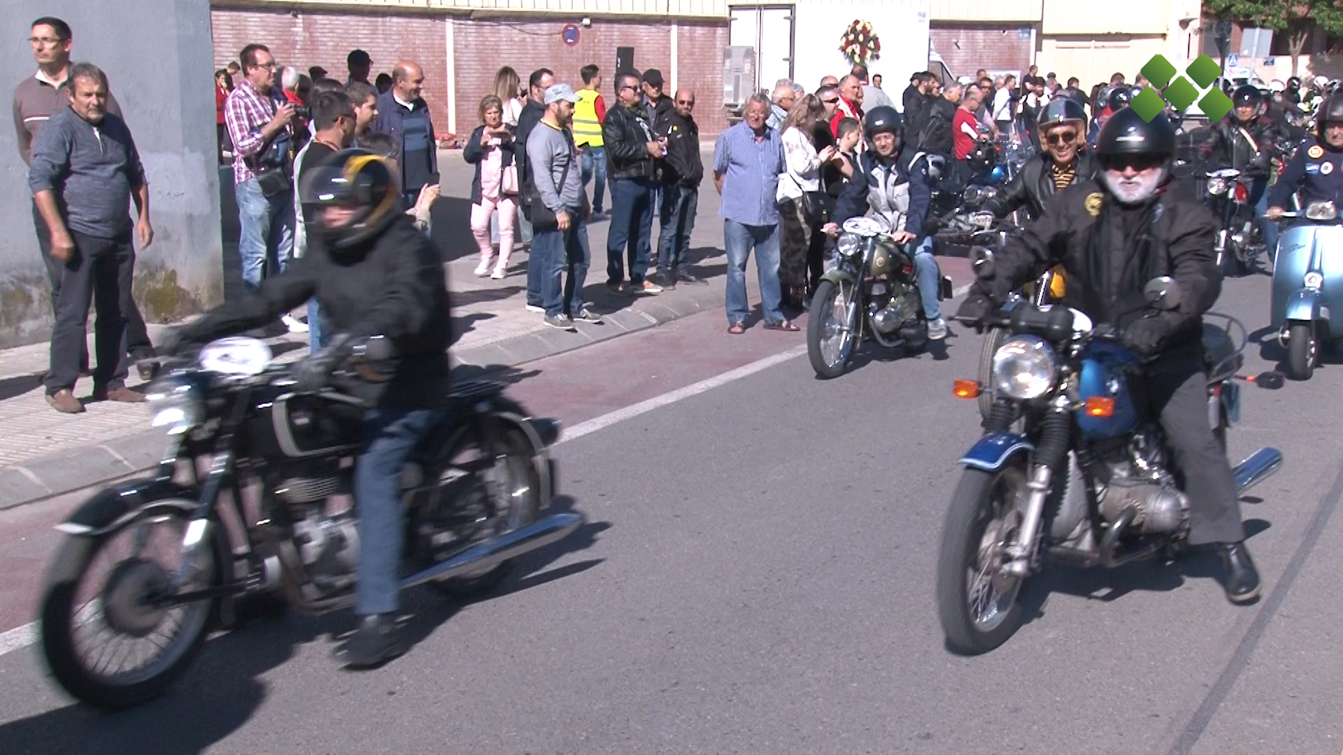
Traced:
<path fill-rule="evenodd" d="M 332 253 L 359 247 L 402 215 L 402 196 L 392 181 L 391 165 L 367 149 L 342 149 L 304 175 L 304 208 L 313 214 L 312 227 Z M 325 207 L 352 207 L 349 222 L 328 226 Z"/>

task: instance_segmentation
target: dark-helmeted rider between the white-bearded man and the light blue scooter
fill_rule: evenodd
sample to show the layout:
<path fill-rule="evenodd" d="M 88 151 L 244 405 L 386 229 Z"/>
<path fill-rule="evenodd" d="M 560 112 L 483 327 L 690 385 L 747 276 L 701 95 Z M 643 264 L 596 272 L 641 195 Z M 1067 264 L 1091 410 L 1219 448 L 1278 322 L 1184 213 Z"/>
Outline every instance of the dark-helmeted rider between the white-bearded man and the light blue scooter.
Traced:
<path fill-rule="evenodd" d="M 1213 156 L 1221 165 L 1236 168 L 1250 179 L 1249 203 L 1254 214 L 1264 218 L 1268 211 L 1268 179 L 1276 156 L 1276 140 L 1289 140 L 1281 121 L 1264 113 L 1264 93 L 1253 85 L 1244 85 L 1232 93 L 1236 106 L 1230 116 L 1213 126 L 1203 142 L 1203 154 Z M 1277 223 L 1264 220 L 1264 245 L 1269 254 L 1277 249 Z"/>

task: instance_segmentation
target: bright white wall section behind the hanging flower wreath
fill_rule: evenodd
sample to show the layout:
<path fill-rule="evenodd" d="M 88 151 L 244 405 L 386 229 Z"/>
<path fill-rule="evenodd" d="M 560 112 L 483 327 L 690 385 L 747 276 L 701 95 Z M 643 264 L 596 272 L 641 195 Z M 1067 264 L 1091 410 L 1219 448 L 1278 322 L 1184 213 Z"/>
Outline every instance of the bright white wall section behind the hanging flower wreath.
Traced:
<path fill-rule="evenodd" d="M 810 91 L 822 77 L 847 74 L 850 66 L 839 52 L 839 39 L 854 19 L 872 21 L 872 31 L 881 40 L 881 58 L 869 66 L 869 71 L 881 74 L 886 94 L 900 102 L 900 91 L 909 83 L 909 75 L 928 67 L 929 3 L 799 1 L 794 79 Z"/>

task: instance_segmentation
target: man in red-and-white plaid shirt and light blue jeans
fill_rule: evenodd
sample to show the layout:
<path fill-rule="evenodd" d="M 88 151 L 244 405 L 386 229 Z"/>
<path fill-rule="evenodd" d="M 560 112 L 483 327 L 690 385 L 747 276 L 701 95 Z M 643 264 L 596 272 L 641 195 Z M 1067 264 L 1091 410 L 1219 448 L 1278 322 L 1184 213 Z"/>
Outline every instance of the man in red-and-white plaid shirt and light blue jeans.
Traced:
<path fill-rule="evenodd" d="M 234 142 L 238 255 L 243 289 L 251 293 L 261 286 L 266 261 L 283 270 L 294 246 L 294 106 L 275 90 L 275 59 L 266 46 L 243 47 L 239 62 L 243 79 L 224 101 L 224 125 Z"/>

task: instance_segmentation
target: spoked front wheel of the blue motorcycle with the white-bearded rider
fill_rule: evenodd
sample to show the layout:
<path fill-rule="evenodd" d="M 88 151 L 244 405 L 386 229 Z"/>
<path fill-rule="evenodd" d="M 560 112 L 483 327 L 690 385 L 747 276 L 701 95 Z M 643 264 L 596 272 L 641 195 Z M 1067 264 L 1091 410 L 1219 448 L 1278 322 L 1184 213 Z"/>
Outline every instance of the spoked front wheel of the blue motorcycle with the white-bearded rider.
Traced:
<path fill-rule="evenodd" d="M 1026 493 L 1018 466 L 967 469 L 956 486 L 937 555 L 937 615 L 955 653 L 987 653 L 1021 626 L 1025 580 L 1003 576 L 999 567 L 1021 525 L 1018 502 Z"/>

